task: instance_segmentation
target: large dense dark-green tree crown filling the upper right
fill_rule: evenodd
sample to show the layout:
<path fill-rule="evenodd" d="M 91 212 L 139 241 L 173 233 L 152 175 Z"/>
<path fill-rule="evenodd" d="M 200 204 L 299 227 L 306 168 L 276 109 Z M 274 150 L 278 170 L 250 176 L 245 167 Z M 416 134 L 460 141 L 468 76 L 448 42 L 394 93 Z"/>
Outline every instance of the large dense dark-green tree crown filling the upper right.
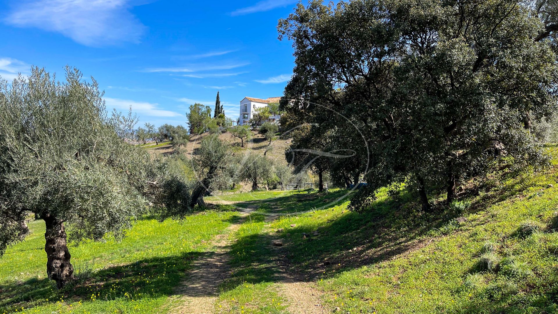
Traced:
<path fill-rule="evenodd" d="M 555 54 L 536 40 L 543 28 L 512 0 L 299 4 L 278 25 L 296 58 L 285 96 L 325 103 L 365 135 L 374 171 L 354 209 L 375 187 L 408 180 L 429 210 L 427 185 L 445 185 L 451 202 L 503 155 L 545 161 L 530 132 L 557 108 Z"/>

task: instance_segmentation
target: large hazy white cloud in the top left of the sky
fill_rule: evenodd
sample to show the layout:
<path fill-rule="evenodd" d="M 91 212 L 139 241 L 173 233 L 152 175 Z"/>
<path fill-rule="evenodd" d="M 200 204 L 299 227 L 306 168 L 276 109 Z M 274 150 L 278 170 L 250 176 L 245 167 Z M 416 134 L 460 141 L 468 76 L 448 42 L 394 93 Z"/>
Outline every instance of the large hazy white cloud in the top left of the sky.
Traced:
<path fill-rule="evenodd" d="M 138 42 L 145 29 L 128 11 L 130 0 L 27 0 L 4 22 L 59 32 L 86 46 Z"/>

